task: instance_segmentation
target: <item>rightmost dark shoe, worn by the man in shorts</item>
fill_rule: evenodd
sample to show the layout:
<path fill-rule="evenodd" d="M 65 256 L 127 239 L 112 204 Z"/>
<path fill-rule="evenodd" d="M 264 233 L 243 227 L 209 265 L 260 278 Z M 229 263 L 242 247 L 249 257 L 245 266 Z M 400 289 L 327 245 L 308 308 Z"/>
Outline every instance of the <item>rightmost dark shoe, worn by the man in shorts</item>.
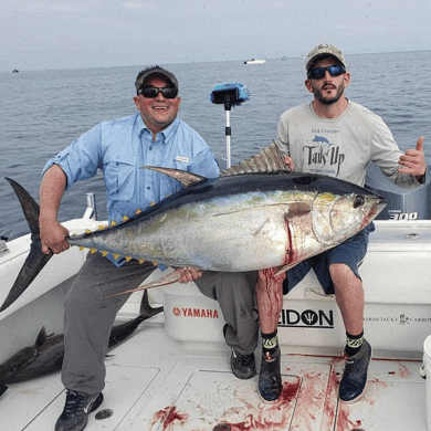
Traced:
<path fill-rule="evenodd" d="M 367 383 L 367 372 L 371 360 L 371 346 L 365 339 L 360 350 L 346 359 L 343 379 L 339 383 L 338 397 L 344 402 L 355 402 L 364 393 Z"/>

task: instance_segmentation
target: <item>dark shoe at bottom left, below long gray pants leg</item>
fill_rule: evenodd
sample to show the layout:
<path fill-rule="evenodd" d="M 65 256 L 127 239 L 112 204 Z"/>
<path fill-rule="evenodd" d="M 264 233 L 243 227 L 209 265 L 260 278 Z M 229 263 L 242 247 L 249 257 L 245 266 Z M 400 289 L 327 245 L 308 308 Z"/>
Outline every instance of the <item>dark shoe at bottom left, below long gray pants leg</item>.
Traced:
<path fill-rule="evenodd" d="M 63 413 L 55 423 L 55 431 L 82 431 L 88 421 L 88 414 L 103 401 L 102 392 L 90 395 L 69 390 Z"/>

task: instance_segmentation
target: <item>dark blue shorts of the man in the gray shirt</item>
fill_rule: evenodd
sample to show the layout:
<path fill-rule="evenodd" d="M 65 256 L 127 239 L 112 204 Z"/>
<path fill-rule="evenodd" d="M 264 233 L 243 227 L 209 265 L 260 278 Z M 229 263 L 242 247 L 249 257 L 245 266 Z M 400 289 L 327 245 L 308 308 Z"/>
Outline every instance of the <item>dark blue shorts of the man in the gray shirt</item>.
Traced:
<path fill-rule="evenodd" d="M 296 284 L 298 284 L 305 275 L 307 275 L 312 267 L 326 295 L 333 295 L 335 293 L 335 288 L 329 275 L 329 265 L 332 263 L 346 264 L 350 267 L 355 275 L 360 278 L 358 269 L 367 254 L 369 241 L 368 235 L 370 232 L 374 232 L 375 229 L 375 224 L 371 223 L 355 236 L 348 239 L 334 249 L 307 259 L 287 271 L 286 278 L 283 282 L 283 295 L 286 295 L 290 291 L 292 291 L 292 288 L 294 288 Z"/>

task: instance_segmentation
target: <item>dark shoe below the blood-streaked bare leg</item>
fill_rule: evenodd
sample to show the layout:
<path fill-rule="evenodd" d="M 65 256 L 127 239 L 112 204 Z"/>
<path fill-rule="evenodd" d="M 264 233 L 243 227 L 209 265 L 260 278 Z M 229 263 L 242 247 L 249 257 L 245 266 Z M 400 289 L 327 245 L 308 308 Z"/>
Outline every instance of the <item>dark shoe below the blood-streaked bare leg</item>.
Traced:
<path fill-rule="evenodd" d="M 259 395 L 264 402 L 276 401 L 283 391 L 280 348 L 273 355 L 262 355 L 261 372 L 259 375 Z"/>

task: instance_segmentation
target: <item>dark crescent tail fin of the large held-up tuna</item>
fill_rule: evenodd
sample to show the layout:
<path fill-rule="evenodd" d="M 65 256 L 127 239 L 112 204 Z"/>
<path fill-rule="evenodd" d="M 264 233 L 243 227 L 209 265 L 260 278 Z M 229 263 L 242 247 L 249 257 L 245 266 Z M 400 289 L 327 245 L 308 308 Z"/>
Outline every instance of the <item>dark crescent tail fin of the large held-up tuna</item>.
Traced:
<path fill-rule="evenodd" d="M 22 269 L 18 274 L 18 277 L 12 288 L 10 290 L 7 298 L 0 307 L 0 313 L 8 308 L 11 304 L 13 304 L 18 299 L 18 297 L 27 290 L 27 287 L 29 287 L 31 282 L 42 271 L 43 266 L 45 266 L 45 264 L 52 257 L 53 254 L 52 252 L 50 254 L 44 254 L 42 252 L 42 242 L 39 231 L 39 204 L 17 181 L 13 181 L 10 178 L 6 179 L 12 186 L 21 203 L 22 211 L 24 212 L 31 232 L 31 245 L 30 253 L 25 259 L 25 262 L 22 265 Z"/>

